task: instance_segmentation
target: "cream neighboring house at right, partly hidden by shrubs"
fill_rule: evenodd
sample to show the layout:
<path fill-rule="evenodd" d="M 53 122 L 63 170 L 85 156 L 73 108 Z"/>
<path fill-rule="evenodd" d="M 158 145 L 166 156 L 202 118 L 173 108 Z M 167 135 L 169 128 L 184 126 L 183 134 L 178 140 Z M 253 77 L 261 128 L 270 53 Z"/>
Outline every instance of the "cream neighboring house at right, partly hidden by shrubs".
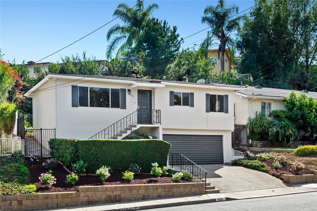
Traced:
<path fill-rule="evenodd" d="M 268 119 L 272 110 L 286 110 L 284 98 L 289 96 L 291 90 L 264 88 L 261 86 L 247 87 L 236 92 L 234 97 L 234 123 L 241 131 L 241 125 L 245 126 L 248 117 L 254 117 L 256 111 L 261 111 Z M 296 94 L 305 93 L 308 97 L 317 99 L 317 92 L 295 91 Z M 236 130 L 236 128 L 235 128 Z M 243 132 L 243 131 L 242 131 Z M 245 137 L 242 135 L 242 137 Z M 234 138 L 235 139 L 235 138 Z M 247 140 L 240 140 L 240 144 L 245 145 Z"/>

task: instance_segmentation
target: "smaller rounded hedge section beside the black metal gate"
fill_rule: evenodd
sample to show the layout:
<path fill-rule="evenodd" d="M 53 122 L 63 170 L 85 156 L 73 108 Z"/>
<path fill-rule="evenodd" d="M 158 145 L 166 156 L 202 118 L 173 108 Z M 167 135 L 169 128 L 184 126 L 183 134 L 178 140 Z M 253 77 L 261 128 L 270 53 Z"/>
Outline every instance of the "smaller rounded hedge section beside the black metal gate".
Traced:
<path fill-rule="evenodd" d="M 78 161 L 78 141 L 76 139 L 50 139 L 51 155 L 64 165 L 70 166 Z"/>

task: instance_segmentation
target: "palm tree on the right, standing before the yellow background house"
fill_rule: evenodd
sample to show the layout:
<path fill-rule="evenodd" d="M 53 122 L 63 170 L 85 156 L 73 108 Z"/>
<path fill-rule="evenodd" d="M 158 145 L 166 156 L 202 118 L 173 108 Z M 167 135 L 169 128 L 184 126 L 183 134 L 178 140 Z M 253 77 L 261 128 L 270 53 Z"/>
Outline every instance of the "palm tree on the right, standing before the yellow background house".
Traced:
<path fill-rule="evenodd" d="M 211 28 L 211 36 L 203 41 L 201 47 L 207 49 L 210 43 L 217 40 L 219 43 L 218 53 L 221 52 L 221 70 L 224 70 L 224 53 L 226 46 L 234 47 L 234 41 L 230 36 L 233 31 L 239 26 L 242 16 L 238 14 L 239 7 L 236 5 L 227 6 L 224 0 L 218 0 L 217 6 L 207 6 L 204 9 L 204 16 L 201 18 L 202 23 L 206 23 Z M 233 16 L 236 16 L 233 18 Z M 215 44 L 215 43 L 213 43 Z"/>

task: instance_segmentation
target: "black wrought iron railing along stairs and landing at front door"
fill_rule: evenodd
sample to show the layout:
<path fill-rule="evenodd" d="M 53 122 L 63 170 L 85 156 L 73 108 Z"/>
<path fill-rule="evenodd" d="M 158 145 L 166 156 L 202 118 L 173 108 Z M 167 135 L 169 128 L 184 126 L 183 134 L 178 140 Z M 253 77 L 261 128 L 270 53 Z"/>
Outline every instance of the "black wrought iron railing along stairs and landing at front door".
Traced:
<path fill-rule="evenodd" d="M 89 139 L 114 139 L 114 137 L 134 124 L 160 124 L 161 110 L 137 109 Z"/>

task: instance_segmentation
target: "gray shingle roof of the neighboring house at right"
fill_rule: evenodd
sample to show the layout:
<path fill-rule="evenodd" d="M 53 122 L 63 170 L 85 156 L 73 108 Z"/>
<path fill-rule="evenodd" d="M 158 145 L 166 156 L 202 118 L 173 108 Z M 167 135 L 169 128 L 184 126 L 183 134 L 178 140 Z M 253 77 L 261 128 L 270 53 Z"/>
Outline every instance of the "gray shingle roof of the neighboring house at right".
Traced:
<path fill-rule="evenodd" d="M 264 88 L 262 89 L 256 89 L 254 87 L 248 87 L 244 90 L 237 91 L 238 93 L 248 95 L 248 96 L 255 96 L 255 97 L 261 97 L 261 96 L 269 96 L 269 97 L 287 97 L 291 93 L 291 90 L 283 90 L 283 89 L 273 89 L 273 88 Z M 295 91 L 296 94 L 302 94 L 301 91 Z M 305 93 L 307 96 L 312 96 L 314 99 L 317 99 L 317 92 L 309 92 Z"/>

